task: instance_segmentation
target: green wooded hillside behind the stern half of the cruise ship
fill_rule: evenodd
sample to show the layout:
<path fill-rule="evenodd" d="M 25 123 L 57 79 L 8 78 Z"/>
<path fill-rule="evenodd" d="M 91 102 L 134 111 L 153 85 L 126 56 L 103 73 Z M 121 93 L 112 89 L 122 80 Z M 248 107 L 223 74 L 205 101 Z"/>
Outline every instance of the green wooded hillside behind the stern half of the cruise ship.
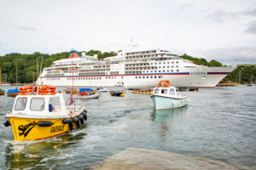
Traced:
<path fill-rule="evenodd" d="M 17 65 L 17 79 L 18 82 L 32 82 L 37 79 L 37 61 L 38 61 L 38 72 L 41 67 L 41 60 L 43 57 L 43 68 L 49 67 L 55 60 L 58 59 L 67 59 L 68 52 L 62 52 L 59 54 L 41 54 L 35 52 L 33 54 L 6 54 L 0 56 L 0 67 L 2 70 L 2 82 L 3 77 L 7 75 L 7 82 L 15 83 L 16 82 L 16 65 Z M 90 50 L 86 53 L 87 55 L 93 56 L 97 54 L 98 59 L 104 59 L 106 57 L 111 57 L 116 55 L 114 52 L 105 52 L 102 54 L 99 50 Z M 43 70 L 43 69 L 42 69 Z"/>

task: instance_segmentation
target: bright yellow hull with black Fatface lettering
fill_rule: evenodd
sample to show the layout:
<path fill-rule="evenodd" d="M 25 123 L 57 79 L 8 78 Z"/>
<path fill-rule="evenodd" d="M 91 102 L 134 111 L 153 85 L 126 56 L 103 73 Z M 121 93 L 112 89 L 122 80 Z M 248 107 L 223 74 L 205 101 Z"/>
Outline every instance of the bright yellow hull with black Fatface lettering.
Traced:
<path fill-rule="evenodd" d="M 69 125 L 62 122 L 63 119 L 34 119 L 9 117 L 15 140 L 40 140 L 47 139 L 70 131 Z M 49 127 L 42 127 L 38 122 L 52 122 Z M 73 128 L 76 128 L 73 122 Z"/>

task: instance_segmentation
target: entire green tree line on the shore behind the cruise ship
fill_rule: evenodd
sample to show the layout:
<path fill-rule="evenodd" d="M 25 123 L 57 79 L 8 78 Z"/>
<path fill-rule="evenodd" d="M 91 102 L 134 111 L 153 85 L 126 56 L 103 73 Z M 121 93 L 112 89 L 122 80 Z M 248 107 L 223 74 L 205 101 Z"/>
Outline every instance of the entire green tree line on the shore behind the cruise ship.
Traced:
<path fill-rule="evenodd" d="M 38 74 L 41 67 L 41 59 L 43 57 L 44 61 L 42 67 L 49 67 L 53 61 L 57 59 L 67 59 L 68 52 L 62 52 L 58 54 L 5 54 L 0 56 L 0 68 L 2 71 L 2 82 L 15 83 L 16 82 L 16 68 L 17 68 L 17 82 L 20 83 L 29 83 L 37 79 L 37 62 L 38 62 Z M 97 54 L 98 59 L 104 59 L 106 57 L 115 56 L 114 52 L 104 52 L 102 53 L 99 50 L 90 50 L 86 55 L 93 56 Z M 183 54 L 180 56 L 183 59 L 189 59 L 196 65 L 206 65 L 206 66 L 223 66 L 220 62 L 212 59 L 207 61 L 207 59 L 199 59 L 188 54 Z M 43 70 L 43 69 L 42 69 Z M 247 83 L 255 81 L 256 77 L 256 65 L 238 65 L 235 71 L 233 71 L 228 77 L 224 78 L 224 81 L 237 82 L 237 76 L 241 71 L 241 82 Z"/>

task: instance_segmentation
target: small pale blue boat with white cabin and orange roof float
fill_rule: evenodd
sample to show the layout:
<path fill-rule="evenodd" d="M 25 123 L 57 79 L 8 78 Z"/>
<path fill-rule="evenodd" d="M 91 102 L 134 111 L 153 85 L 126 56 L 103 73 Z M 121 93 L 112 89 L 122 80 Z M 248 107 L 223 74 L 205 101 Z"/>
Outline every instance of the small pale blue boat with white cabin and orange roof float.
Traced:
<path fill-rule="evenodd" d="M 156 110 L 179 108 L 189 103 L 187 95 L 177 94 L 175 87 L 154 88 L 151 99 Z"/>

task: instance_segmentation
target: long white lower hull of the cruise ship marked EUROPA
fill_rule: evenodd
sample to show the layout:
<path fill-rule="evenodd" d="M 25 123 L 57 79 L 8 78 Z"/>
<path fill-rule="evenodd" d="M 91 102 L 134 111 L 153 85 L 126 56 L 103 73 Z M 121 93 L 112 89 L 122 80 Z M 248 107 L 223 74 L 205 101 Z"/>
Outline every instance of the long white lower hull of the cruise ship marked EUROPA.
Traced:
<path fill-rule="evenodd" d="M 201 67 L 181 72 L 131 75 L 64 75 L 61 77 L 44 77 L 42 76 L 44 75 L 43 72 L 38 83 L 54 86 L 153 88 L 157 86 L 160 80 L 169 80 L 175 87 L 214 88 L 218 82 L 235 69 L 236 67 Z"/>

